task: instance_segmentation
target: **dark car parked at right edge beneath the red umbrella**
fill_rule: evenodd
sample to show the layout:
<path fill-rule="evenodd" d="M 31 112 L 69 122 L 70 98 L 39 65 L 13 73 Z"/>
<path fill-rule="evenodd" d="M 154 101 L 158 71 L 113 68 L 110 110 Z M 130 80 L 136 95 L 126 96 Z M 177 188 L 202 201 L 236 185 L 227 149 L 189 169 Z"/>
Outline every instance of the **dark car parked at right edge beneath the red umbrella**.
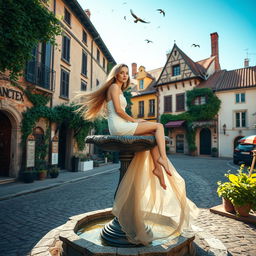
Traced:
<path fill-rule="evenodd" d="M 254 149 L 256 149 L 256 145 L 254 144 L 238 144 L 234 149 L 233 163 L 239 164 L 243 162 L 250 165 L 253 157 L 252 150 Z"/>

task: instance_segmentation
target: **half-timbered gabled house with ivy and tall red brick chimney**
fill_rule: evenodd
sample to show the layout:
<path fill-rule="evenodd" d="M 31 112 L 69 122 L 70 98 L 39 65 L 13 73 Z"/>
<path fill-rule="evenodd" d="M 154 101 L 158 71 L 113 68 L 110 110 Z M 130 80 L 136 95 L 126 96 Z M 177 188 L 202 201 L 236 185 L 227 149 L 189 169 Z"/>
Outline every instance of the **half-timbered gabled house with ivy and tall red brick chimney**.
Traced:
<path fill-rule="evenodd" d="M 211 56 L 194 62 L 176 44 L 156 83 L 160 121 L 170 137 L 170 152 L 209 155 L 218 148 L 219 99 L 199 85 L 220 70 L 218 34 L 212 33 Z"/>

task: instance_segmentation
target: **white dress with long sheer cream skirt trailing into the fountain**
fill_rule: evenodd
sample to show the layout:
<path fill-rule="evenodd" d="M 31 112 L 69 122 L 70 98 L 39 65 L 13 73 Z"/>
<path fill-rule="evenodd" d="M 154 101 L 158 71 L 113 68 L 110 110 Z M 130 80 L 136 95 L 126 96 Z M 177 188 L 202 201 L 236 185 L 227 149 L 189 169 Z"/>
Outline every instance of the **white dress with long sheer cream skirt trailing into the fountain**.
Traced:
<path fill-rule="evenodd" d="M 125 110 L 123 94 L 120 103 Z M 107 107 L 110 134 L 133 135 L 138 123 L 118 116 L 112 101 Z M 198 208 L 186 197 L 183 178 L 169 160 L 168 164 L 172 176 L 166 175 L 163 169 L 167 186 L 164 190 L 152 173 L 154 162 L 150 151 L 137 152 L 119 185 L 112 212 L 134 244 L 147 245 L 156 239 L 177 237 L 188 231 L 198 216 Z"/>

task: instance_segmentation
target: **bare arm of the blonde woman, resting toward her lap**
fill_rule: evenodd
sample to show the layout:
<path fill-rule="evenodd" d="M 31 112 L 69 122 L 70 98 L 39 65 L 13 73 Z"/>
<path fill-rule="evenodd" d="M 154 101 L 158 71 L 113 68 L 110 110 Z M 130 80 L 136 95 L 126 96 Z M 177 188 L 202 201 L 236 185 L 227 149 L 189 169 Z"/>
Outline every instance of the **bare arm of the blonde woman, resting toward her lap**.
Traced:
<path fill-rule="evenodd" d="M 121 90 L 118 85 L 112 84 L 109 88 L 109 94 L 114 104 L 114 108 L 116 113 L 122 117 L 123 119 L 130 121 L 130 122 L 138 122 L 138 120 L 134 119 L 133 117 L 129 116 L 122 108 L 120 104 L 120 95 Z"/>

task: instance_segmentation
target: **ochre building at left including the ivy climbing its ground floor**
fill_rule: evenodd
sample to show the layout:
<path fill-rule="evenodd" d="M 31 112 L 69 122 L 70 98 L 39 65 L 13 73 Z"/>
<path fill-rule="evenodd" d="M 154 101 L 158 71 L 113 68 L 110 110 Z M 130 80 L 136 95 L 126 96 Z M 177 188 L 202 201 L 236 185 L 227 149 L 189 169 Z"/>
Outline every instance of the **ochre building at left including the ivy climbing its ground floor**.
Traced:
<path fill-rule="evenodd" d="M 34 48 L 24 76 L 0 81 L 0 176 L 18 177 L 26 168 L 26 143 L 33 135 L 35 158 L 51 162 L 51 143 L 58 137 L 58 165 L 71 169 L 71 158 L 84 150 L 90 123 L 74 111 L 73 98 L 92 91 L 116 64 L 100 34 L 77 1 L 48 1 L 62 33 L 57 46 Z"/>

